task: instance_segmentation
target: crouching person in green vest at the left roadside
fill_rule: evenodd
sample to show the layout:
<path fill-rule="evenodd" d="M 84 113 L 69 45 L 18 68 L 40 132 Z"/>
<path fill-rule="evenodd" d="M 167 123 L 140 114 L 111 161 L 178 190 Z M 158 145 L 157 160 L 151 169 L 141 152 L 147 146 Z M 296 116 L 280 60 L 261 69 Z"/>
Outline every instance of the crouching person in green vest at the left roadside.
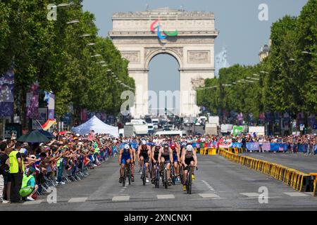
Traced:
<path fill-rule="evenodd" d="M 39 188 L 37 184 L 35 184 L 35 174 L 36 170 L 34 167 L 30 167 L 27 174 L 23 174 L 22 186 L 19 193 L 22 198 L 26 198 L 26 200 L 29 201 L 35 201 L 32 195 L 34 195 L 37 192 L 37 188 Z"/>

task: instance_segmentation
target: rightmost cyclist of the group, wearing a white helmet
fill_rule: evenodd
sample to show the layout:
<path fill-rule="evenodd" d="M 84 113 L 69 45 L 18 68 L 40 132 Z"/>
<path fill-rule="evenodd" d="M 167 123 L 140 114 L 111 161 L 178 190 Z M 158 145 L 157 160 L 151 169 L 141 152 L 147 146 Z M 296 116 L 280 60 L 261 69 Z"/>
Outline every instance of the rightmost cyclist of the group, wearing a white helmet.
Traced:
<path fill-rule="evenodd" d="M 187 181 L 186 179 L 187 179 L 187 172 L 188 172 L 189 166 L 192 167 L 192 180 L 195 179 L 194 167 L 197 167 L 197 155 L 196 155 L 196 152 L 194 151 L 194 148 L 192 148 L 192 145 L 187 145 L 186 148 L 183 148 L 182 165 L 184 166 L 182 190 L 186 191 L 186 181 Z"/>

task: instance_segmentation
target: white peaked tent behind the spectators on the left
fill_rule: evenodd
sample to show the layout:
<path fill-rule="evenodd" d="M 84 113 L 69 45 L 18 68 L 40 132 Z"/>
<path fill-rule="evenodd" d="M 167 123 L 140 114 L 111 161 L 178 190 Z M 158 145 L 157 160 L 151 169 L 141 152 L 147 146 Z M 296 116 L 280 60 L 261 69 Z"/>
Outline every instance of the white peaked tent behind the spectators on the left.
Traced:
<path fill-rule="evenodd" d="M 80 135 L 89 134 L 91 130 L 94 130 L 95 134 L 111 134 L 112 136 L 119 136 L 118 127 L 112 127 L 105 124 L 94 115 L 90 120 L 81 124 L 78 127 L 73 127 L 73 132 Z"/>

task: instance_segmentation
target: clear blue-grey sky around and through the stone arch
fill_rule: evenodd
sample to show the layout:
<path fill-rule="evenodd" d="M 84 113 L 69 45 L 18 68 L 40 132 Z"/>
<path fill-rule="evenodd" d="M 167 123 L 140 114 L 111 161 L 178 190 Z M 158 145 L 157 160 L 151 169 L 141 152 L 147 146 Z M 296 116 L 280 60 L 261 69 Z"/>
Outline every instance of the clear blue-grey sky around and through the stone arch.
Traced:
<path fill-rule="evenodd" d="M 230 65 L 259 63 L 259 49 L 268 43 L 271 25 L 284 15 L 299 15 L 307 0 L 84 0 L 86 11 L 94 13 L 99 35 L 108 36 L 112 29 L 111 17 L 116 12 L 145 11 L 149 8 L 169 7 L 186 11 L 211 11 L 215 13 L 215 53 L 223 46 L 228 49 Z M 259 4 L 268 5 L 268 21 L 260 21 Z M 161 65 L 164 65 L 162 67 Z M 168 55 L 156 56 L 150 63 L 149 89 L 178 90 L 180 77 L 178 63 Z"/>

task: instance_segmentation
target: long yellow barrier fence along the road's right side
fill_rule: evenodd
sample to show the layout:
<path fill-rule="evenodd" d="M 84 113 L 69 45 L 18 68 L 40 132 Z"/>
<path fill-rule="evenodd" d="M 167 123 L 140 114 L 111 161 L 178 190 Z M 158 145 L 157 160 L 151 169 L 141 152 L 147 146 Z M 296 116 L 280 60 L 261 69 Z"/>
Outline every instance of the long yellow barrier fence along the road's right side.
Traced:
<path fill-rule="evenodd" d="M 219 149 L 218 154 L 231 162 L 236 162 L 250 169 L 262 172 L 274 179 L 282 181 L 287 186 L 291 186 L 297 191 L 311 192 L 316 196 L 317 173 L 306 174 L 297 169 L 278 165 L 276 163 L 251 158 L 245 155 L 238 155 L 237 150 Z"/>

